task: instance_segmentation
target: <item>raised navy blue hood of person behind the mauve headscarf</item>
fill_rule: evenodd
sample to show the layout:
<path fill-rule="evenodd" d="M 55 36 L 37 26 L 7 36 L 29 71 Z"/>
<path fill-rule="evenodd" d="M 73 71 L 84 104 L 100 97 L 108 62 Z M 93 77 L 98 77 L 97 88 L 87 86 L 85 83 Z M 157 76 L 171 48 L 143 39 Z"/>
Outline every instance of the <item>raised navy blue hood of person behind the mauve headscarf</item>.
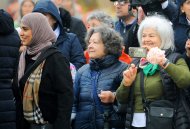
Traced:
<path fill-rule="evenodd" d="M 52 1 L 40 0 L 35 5 L 33 12 L 48 13 L 52 15 L 55 18 L 55 20 L 58 22 L 59 26 L 63 28 L 58 8 L 55 6 L 55 4 Z"/>

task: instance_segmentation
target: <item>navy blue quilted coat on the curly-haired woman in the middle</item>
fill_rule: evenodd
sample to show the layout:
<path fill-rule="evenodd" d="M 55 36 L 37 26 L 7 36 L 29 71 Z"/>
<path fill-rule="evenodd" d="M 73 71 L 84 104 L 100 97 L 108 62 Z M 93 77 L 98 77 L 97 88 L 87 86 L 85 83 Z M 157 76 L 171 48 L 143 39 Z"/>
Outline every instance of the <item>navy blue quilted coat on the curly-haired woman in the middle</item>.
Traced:
<path fill-rule="evenodd" d="M 110 60 L 111 59 L 111 60 Z M 90 62 L 81 67 L 77 73 L 74 84 L 75 102 L 73 113 L 76 117 L 73 129 L 103 129 L 103 113 L 95 102 L 97 98 L 93 92 L 99 94 L 101 90 L 115 92 L 122 81 L 122 73 L 127 68 L 127 64 L 118 60 L 107 58 L 101 61 Z M 97 90 L 93 90 L 94 87 Z M 112 111 L 113 104 L 104 105 L 104 111 Z"/>

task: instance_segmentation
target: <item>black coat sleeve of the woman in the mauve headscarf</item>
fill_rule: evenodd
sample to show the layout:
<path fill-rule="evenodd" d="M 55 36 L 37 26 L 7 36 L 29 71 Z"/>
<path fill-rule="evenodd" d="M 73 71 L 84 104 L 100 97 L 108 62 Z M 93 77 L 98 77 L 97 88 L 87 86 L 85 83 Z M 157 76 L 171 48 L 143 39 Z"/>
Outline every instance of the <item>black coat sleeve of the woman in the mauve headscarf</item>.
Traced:
<path fill-rule="evenodd" d="M 62 54 L 57 54 L 53 64 L 53 80 L 57 96 L 57 117 L 54 129 L 70 129 L 73 104 L 73 82 L 69 62 Z"/>

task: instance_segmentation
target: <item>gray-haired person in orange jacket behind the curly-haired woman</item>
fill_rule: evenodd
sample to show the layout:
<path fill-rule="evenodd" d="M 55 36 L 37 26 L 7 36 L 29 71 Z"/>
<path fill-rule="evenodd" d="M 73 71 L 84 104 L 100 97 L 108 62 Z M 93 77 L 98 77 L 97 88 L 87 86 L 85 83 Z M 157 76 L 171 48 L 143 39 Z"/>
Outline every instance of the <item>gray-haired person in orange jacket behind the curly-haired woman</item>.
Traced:
<path fill-rule="evenodd" d="M 91 12 L 88 15 L 86 21 L 87 21 L 88 29 L 91 29 L 92 27 L 97 27 L 97 26 L 107 26 L 110 28 L 114 28 L 114 21 L 112 17 L 100 10 Z M 87 50 L 84 52 L 84 55 L 86 57 L 87 63 L 89 63 L 90 57 Z M 123 46 L 122 54 L 119 57 L 119 60 L 127 64 L 129 64 L 132 61 L 130 56 L 124 52 L 124 46 Z"/>

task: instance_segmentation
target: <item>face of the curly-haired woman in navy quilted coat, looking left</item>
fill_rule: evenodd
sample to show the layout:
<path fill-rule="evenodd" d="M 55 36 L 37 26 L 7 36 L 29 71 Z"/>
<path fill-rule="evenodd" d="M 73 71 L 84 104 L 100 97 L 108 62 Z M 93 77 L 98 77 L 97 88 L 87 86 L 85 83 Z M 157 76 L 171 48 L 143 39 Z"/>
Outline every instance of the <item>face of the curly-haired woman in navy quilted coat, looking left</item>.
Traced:
<path fill-rule="evenodd" d="M 99 33 L 94 33 L 89 39 L 88 53 L 91 59 L 103 58 L 106 54 L 105 47 Z"/>

